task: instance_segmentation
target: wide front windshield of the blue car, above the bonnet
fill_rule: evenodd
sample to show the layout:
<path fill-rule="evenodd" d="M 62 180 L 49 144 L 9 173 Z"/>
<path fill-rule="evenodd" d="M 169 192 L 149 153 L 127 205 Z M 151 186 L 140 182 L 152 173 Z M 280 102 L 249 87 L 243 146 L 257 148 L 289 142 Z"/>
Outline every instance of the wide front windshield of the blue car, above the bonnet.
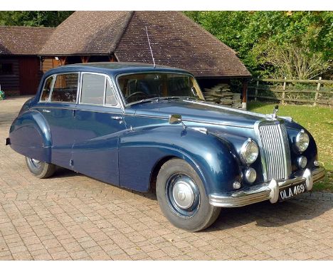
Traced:
<path fill-rule="evenodd" d="M 203 100 L 198 83 L 191 75 L 175 73 L 139 73 L 118 78 L 125 103 L 152 98 L 194 98 Z"/>

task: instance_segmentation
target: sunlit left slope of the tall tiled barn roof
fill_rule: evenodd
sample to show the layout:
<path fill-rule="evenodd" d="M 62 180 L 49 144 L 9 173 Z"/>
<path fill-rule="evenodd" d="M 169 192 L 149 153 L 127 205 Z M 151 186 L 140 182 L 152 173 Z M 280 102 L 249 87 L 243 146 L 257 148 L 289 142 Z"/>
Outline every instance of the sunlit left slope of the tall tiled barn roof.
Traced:
<path fill-rule="evenodd" d="M 41 54 L 109 55 L 131 15 L 132 11 L 76 11 L 56 28 Z"/>

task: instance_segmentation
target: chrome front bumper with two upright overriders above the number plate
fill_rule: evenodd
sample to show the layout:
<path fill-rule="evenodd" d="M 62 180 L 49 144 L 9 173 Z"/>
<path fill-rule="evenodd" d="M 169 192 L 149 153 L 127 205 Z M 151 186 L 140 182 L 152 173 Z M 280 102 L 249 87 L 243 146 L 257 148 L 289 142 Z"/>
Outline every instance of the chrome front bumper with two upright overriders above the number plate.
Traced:
<path fill-rule="evenodd" d="M 324 176 L 325 169 L 323 167 L 319 167 L 313 171 L 305 169 L 302 176 L 295 177 L 293 179 L 272 179 L 270 182 L 254 185 L 253 187 L 243 189 L 238 192 L 228 194 L 210 194 L 209 203 L 212 206 L 221 207 L 246 206 L 257 202 L 263 202 L 265 200 L 270 200 L 271 203 L 275 203 L 279 199 L 281 189 L 305 182 L 307 191 L 310 191 L 312 189 L 312 185 L 315 182 L 319 182 L 319 180 L 323 179 Z"/>

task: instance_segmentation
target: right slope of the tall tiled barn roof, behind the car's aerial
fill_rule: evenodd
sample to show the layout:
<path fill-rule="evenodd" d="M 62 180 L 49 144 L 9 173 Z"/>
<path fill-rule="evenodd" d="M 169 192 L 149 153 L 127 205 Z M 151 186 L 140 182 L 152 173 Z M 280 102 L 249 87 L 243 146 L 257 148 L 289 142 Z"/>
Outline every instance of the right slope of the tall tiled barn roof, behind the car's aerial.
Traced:
<path fill-rule="evenodd" d="M 176 11 L 135 11 L 115 50 L 119 61 L 152 63 L 145 26 L 157 64 L 196 76 L 250 76 L 233 49 Z"/>

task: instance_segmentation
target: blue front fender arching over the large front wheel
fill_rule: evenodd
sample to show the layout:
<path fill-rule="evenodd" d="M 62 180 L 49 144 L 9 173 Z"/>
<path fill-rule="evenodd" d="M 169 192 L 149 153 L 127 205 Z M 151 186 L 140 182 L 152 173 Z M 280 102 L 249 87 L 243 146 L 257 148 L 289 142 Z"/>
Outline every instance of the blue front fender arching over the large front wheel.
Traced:
<path fill-rule="evenodd" d="M 154 166 L 165 157 L 188 162 L 201 177 L 206 194 L 230 191 L 240 175 L 225 140 L 191 127 L 144 127 L 120 137 L 120 186 L 147 191 Z"/>

